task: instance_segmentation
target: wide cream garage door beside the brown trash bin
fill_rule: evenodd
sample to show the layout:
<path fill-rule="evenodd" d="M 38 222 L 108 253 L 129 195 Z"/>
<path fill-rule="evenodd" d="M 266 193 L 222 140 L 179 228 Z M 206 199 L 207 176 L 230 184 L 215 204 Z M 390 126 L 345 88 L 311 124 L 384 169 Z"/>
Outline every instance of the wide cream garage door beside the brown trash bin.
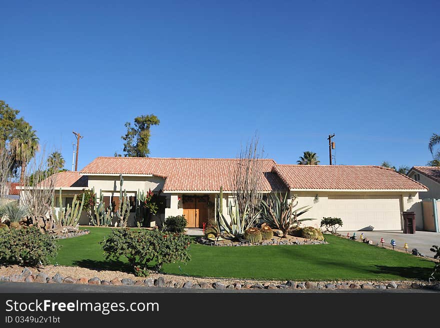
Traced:
<path fill-rule="evenodd" d="M 328 215 L 342 219 L 339 230 L 400 230 L 400 196 L 328 196 Z"/>

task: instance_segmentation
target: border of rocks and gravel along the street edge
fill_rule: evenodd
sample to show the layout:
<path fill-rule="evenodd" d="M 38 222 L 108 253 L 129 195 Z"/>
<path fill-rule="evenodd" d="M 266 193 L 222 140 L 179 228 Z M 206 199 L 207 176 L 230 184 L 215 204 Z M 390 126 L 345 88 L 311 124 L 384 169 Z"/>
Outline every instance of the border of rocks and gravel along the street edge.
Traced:
<path fill-rule="evenodd" d="M 185 288 L 185 289 L 433 289 L 440 290 L 440 283 L 427 283 L 425 281 L 293 281 L 287 280 L 284 283 L 273 283 L 270 281 L 243 282 L 236 281 L 225 284 L 224 281 L 215 281 L 212 283 L 201 281 L 194 283 L 193 280 L 174 281 L 166 279 L 167 276 L 158 276 L 156 279 L 141 278 L 138 280 L 131 278 L 114 278 L 111 281 L 101 280 L 99 277 L 74 278 L 72 276 L 62 277 L 56 273 L 52 277 L 44 272 L 32 273 L 29 268 L 24 268 L 21 274 L 11 274 L 9 276 L 0 276 L 0 281 L 10 282 L 42 282 L 42 283 L 81 283 L 93 285 L 133 285 L 153 288 Z M 201 280 L 201 279 L 200 279 Z M 231 279 L 233 280 L 233 279 Z"/>

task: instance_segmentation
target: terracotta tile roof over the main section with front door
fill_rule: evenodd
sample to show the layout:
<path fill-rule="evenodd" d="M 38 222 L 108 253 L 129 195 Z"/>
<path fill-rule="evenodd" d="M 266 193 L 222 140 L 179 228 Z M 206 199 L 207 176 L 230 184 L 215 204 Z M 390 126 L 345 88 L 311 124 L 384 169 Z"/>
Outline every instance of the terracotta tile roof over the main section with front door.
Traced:
<path fill-rule="evenodd" d="M 285 189 L 279 177 L 272 173 L 275 162 L 263 159 L 262 190 Z M 166 178 L 163 191 L 230 190 L 229 176 L 236 159 L 223 158 L 141 158 L 97 157 L 80 172 L 82 174 L 151 174 Z"/>

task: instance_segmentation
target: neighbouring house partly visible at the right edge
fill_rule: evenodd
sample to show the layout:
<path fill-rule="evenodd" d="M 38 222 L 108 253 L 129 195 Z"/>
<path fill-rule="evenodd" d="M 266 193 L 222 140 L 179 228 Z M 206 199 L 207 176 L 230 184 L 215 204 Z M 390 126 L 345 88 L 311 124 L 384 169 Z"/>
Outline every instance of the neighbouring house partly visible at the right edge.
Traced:
<path fill-rule="evenodd" d="M 428 188 L 419 193 L 422 200 L 423 229 L 440 232 L 440 167 L 413 166 L 407 175 Z"/>

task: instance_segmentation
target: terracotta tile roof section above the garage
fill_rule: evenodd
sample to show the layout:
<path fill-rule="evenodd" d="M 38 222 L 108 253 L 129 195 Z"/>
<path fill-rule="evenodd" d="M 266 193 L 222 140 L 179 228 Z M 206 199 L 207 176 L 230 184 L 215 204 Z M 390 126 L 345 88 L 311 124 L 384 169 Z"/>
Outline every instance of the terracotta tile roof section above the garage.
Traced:
<path fill-rule="evenodd" d="M 289 189 L 420 190 L 424 185 L 380 166 L 275 165 Z"/>

